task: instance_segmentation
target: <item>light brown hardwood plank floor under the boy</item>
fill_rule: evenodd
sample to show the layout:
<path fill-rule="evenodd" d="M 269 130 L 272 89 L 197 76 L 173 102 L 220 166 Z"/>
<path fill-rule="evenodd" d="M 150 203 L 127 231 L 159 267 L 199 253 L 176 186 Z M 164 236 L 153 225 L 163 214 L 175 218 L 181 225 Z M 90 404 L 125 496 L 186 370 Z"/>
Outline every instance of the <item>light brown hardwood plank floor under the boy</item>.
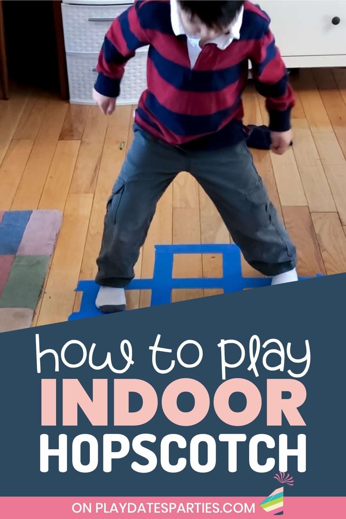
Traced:
<path fill-rule="evenodd" d="M 345 272 L 346 69 L 302 70 L 292 82 L 294 147 L 282 157 L 254 151 L 255 163 L 297 246 L 299 275 Z M 251 86 L 244 107 L 245 122 L 267 124 L 264 100 Z M 21 90 L 0 101 L 0 210 L 64 213 L 34 325 L 65 321 L 80 304 L 78 279 L 95 276 L 105 203 L 132 140 L 132 112 L 120 106 L 105 117 L 96 107 Z M 230 243 L 213 203 L 186 172 L 158 204 L 136 277 L 153 276 L 160 243 Z M 243 261 L 243 275 L 258 273 Z M 221 258 L 177 256 L 174 276 L 222 276 Z M 172 301 L 216 293 L 175 290 Z M 149 305 L 148 291 L 127 297 L 129 308 Z"/>

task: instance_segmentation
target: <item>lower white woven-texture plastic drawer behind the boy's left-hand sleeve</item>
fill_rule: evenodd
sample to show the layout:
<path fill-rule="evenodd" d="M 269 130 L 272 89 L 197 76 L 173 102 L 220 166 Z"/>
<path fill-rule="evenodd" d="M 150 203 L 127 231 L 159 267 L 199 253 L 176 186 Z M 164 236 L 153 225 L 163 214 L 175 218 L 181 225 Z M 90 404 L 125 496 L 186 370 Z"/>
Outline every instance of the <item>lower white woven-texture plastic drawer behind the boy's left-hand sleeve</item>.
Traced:
<path fill-rule="evenodd" d="M 92 87 L 95 83 L 98 53 L 66 53 L 70 102 L 93 104 Z M 125 74 L 120 84 L 120 96 L 117 104 L 136 104 L 146 84 L 147 52 L 136 52 L 126 65 Z"/>

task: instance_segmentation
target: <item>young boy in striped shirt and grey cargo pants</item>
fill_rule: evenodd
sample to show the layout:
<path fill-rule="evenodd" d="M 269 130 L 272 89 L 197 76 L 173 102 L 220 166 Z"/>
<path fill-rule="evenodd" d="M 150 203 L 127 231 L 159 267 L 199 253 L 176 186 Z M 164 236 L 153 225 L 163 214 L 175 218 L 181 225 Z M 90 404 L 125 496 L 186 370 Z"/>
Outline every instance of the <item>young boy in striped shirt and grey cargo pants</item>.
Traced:
<path fill-rule="evenodd" d="M 107 204 L 96 306 L 125 309 L 156 204 L 180 171 L 189 171 L 222 216 L 250 265 L 272 284 L 296 281 L 296 250 L 279 221 L 246 146 L 241 94 L 248 60 L 267 98 L 272 151 L 292 139 L 294 106 L 269 18 L 250 2 L 135 2 L 106 34 L 93 96 L 112 114 L 124 65 L 149 45 L 147 84 L 135 112 L 134 140 Z"/>

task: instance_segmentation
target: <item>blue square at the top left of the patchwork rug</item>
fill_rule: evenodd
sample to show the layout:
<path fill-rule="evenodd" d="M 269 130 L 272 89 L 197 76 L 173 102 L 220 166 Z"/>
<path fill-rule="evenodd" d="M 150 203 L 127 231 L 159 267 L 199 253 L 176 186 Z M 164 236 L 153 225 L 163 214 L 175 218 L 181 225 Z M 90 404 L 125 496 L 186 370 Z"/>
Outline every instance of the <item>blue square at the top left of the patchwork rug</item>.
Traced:
<path fill-rule="evenodd" d="M 32 211 L 6 211 L 0 223 L 0 254 L 17 254 Z"/>

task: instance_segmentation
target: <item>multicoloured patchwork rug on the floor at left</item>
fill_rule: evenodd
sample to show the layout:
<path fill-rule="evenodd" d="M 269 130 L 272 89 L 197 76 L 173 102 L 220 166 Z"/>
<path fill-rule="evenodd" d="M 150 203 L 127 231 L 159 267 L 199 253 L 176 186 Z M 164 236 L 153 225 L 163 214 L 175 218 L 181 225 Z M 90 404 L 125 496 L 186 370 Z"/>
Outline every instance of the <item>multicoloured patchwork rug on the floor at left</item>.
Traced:
<path fill-rule="evenodd" d="M 31 325 L 61 222 L 59 211 L 0 211 L 0 332 Z"/>

